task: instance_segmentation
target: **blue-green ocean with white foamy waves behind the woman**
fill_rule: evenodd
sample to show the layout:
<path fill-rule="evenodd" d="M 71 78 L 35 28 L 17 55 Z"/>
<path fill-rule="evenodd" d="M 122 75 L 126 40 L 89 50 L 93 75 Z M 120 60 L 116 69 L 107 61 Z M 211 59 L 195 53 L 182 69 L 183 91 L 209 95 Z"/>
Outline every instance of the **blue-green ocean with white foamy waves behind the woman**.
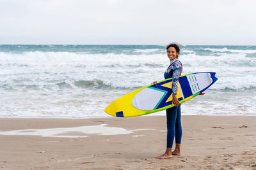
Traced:
<path fill-rule="evenodd" d="M 179 60 L 218 78 L 182 115 L 256 116 L 256 46 L 181 46 Z M 169 64 L 165 45 L 0 45 L 0 117 L 111 117 L 108 104 Z"/>

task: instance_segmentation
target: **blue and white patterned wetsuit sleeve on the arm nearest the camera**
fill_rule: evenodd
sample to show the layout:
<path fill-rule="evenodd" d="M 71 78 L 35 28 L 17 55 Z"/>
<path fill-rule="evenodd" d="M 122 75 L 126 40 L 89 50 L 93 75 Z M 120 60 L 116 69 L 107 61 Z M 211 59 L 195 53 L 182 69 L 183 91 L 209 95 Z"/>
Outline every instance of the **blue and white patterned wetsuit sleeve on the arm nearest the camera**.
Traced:
<path fill-rule="evenodd" d="M 172 94 L 177 94 L 178 90 L 178 80 L 182 70 L 182 65 L 180 62 L 173 63 L 173 74 L 172 74 Z"/>

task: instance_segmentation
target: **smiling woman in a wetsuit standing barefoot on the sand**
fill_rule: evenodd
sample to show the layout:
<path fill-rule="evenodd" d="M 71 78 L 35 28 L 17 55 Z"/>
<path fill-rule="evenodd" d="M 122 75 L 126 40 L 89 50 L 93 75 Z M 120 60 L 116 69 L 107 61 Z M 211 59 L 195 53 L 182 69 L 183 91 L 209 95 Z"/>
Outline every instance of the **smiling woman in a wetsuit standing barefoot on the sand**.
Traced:
<path fill-rule="evenodd" d="M 166 110 L 167 122 L 167 145 L 163 155 L 157 159 L 172 158 L 172 155 L 181 155 L 180 142 L 182 136 L 182 127 L 180 122 L 180 103 L 177 98 L 178 80 L 182 72 L 182 63 L 178 60 L 180 48 L 179 45 L 171 43 L 166 46 L 167 56 L 170 59 L 170 66 L 164 72 L 164 78 L 173 78 L 172 80 L 172 104 L 175 106 Z M 156 84 L 157 81 L 154 81 Z M 175 137 L 175 150 L 172 152 L 173 139 Z"/>

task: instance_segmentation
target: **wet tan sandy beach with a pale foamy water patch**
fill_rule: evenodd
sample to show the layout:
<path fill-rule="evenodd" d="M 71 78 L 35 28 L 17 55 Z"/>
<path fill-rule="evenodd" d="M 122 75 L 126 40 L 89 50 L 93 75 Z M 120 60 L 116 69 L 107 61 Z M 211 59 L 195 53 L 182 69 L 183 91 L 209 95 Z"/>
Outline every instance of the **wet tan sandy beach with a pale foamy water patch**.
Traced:
<path fill-rule="evenodd" d="M 164 116 L 0 122 L 0 169 L 256 169 L 256 117 L 182 116 L 172 159 Z"/>

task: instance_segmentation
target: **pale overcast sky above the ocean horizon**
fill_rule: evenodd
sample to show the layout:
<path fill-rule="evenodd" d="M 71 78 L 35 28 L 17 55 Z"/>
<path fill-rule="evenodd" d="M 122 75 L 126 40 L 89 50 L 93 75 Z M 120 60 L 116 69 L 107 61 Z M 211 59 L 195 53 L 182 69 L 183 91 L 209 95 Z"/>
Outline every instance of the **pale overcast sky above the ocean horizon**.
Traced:
<path fill-rule="evenodd" d="M 256 45 L 254 0 L 0 0 L 0 44 Z"/>

